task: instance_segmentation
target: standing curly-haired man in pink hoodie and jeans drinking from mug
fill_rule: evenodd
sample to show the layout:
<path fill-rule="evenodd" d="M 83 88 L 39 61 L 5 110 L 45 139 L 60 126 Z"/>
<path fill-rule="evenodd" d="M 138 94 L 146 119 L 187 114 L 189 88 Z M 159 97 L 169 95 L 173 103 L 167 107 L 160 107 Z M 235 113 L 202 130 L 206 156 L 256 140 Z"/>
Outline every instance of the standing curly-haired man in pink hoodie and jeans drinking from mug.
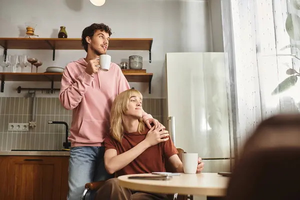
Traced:
<path fill-rule="evenodd" d="M 93 23 L 82 31 L 81 43 L 85 58 L 66 65 L 59 100 L 65 109 L 72 109 L 71 141 L 68 169 L 68 200 L 79 200 L 87 182 L 110 177 L 103 162 L 103 140 L 109 133 L 112 101 L 129 84 L 119 66 L 110 63 L 108 71 L 100 71 L 101 54 L 106 54 L 111 29 L 103 23 Z M 151 128 L 159 122 L 142 111 L 142 120 Z"/>

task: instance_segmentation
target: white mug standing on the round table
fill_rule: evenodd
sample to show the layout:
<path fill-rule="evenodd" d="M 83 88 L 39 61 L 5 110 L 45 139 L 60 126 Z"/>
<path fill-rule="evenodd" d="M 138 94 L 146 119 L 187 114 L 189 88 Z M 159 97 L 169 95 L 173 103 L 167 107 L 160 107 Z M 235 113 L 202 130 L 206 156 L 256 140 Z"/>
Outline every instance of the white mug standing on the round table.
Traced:
<path fill-rule="evenodd" d="M 184 173 L 196 173 L 198 166 L 198 153 L 182 153 Z"/>

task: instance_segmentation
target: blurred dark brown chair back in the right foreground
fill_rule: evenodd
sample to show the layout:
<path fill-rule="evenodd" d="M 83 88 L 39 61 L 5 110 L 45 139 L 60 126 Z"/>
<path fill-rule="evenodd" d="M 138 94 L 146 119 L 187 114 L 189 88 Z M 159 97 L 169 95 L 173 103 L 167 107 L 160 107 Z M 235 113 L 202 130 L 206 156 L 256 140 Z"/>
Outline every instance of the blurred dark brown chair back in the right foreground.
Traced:
<path fill-rule="evenodd" d="M 271 117 L 246 141 L 225 199 L 299 199 L 299 168 L 300 115 Z"/>

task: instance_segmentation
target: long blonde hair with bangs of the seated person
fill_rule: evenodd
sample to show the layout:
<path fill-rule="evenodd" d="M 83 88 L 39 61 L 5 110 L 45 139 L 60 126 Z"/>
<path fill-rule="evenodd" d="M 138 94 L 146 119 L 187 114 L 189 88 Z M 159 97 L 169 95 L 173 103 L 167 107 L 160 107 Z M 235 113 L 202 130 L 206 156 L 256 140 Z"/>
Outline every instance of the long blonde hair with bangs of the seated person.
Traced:
<path fill-rule="evenodd" d="M 112 102 L 111 110 L 110 110 L 110 135 L 121 143 L 124 134 L 123 122 L 124 122 L 124 114 L 128 110 L 128 102 L 131 96 L 137 96 L 142 99 L 141 93 L 136 89 L 127 89 L 121 93 L 119 93 Z M 138 123 L 138 132 L 142 132 L 144 130 L 144 123 L 140 119 Z"/>

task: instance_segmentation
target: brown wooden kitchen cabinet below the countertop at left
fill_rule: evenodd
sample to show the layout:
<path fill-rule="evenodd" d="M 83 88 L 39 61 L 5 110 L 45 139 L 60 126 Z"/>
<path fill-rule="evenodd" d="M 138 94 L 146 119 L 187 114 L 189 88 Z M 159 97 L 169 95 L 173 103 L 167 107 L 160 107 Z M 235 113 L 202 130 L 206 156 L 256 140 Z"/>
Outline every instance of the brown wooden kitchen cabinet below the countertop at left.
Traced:
<path fill-rule="evenodd" d="M 68 156 L 0 156 L 0 167 L 1 200 L 66 199 Z"/>

